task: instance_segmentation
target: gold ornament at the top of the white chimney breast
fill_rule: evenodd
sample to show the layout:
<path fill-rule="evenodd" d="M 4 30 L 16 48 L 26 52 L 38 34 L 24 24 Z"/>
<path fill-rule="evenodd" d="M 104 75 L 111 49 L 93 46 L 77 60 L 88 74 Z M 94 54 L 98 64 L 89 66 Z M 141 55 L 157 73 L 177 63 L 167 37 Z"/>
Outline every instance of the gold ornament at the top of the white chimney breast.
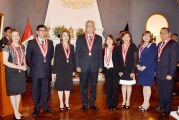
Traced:
<path fill-rule="evenodd" d="M 92 7 L 94 0 L 62 0 L 63 5 L 72 9 L 85 9 Z"/>

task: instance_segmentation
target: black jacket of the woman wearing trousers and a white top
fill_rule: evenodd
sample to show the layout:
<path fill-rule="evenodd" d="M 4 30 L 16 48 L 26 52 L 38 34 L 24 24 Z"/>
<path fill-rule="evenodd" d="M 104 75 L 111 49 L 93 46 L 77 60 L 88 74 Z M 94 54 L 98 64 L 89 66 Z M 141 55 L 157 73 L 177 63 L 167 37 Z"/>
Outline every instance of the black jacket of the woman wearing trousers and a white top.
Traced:
<path fill-rule="evenodd" d="M 105 54 L 105 49 L 103 49 L 103 66 L 104 66 L 104 54 Z M 118 75 L 119 74 L 119 67 L 120 67 L 120 55 L 119 55 L 119 47 L 115 46 L 113 51 L 112 51 L 112 62 L 113 62 L 113 69 L 114 69 L 114 74 Z M 103 73 L 105 74 L 106 68 L 104 67 Z"/>

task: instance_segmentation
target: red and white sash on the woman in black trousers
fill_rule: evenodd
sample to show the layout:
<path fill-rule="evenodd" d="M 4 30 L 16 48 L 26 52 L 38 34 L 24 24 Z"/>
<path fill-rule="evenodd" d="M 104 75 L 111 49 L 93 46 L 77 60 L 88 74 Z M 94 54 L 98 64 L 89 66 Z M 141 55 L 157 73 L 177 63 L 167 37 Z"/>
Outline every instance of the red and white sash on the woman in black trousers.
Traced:
<path fill-rule="evenodd" d="M 108 52 L 108 55 L 107 55 L 107 49 L 108 48 L 106 47 L 105 52 L 104 52 L 104 59 L 105 59 L 106 65 L 109 66 L 110 60 L 112 59 L 112 51 L 114 49 L 114 46 L 111 47 L 111 49 Z"/>

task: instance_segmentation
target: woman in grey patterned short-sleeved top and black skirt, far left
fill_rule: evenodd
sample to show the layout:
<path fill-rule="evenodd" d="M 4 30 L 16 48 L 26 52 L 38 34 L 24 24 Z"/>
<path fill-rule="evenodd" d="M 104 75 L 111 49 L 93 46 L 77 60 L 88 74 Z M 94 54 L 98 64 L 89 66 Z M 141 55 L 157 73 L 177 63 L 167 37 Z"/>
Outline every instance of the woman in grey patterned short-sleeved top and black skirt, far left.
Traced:
<path fill-rule="evenodd" d="M 20 44 L 20 33 L 12 30 L 12 42 L 3 49 L 3 63 L 5 65 L 6 90 L 14 110 L 15 119 L 21 120 L 19 103 L 21 94 L 26 91 L 25 81 L 25 47 Z"/>

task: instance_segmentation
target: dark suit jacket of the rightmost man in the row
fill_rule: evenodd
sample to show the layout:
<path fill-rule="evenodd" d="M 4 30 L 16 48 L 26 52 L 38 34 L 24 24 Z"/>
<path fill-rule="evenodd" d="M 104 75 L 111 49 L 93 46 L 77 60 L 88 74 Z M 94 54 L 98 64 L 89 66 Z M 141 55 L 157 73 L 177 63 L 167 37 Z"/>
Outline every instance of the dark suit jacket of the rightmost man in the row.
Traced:
<path fill-rule="evenodd" d="M 160 46 L 160 44 L 161 42 L 158 44 L 158 47 Z M 178 59 L 177 47 L 177 43 L 174 40 L 170 40 L 164 47 L 160 56 L 160 61 L 157 62 L 157 78 L 159 78 L 160 80 L 166 80 L 167 75 L 174 75 Z"/>

